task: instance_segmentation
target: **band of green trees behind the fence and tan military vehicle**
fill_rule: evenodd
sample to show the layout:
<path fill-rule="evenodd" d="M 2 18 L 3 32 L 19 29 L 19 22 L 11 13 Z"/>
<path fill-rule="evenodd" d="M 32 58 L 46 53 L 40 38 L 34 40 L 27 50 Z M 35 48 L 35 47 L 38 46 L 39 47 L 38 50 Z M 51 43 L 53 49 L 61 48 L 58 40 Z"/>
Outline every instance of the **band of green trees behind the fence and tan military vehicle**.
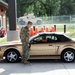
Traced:
<path fill-rule="evenodd" d="M 74 15 L 75 0 L 17 0 L 17 10 L 18 17 L 32 12 L 35 16 Z"/>

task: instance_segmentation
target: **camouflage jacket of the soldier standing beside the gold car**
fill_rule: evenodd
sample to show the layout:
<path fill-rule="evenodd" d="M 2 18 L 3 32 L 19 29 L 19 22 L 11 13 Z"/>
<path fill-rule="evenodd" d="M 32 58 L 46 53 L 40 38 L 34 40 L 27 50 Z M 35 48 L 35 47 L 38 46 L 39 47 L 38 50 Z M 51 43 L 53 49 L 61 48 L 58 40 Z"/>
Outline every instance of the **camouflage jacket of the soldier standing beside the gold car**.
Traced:
<path fill-rule="evenodd" d="M 27 26 L 21 28 L 20 39 L 22 43 L 29 44 L 29 29 Z"/>

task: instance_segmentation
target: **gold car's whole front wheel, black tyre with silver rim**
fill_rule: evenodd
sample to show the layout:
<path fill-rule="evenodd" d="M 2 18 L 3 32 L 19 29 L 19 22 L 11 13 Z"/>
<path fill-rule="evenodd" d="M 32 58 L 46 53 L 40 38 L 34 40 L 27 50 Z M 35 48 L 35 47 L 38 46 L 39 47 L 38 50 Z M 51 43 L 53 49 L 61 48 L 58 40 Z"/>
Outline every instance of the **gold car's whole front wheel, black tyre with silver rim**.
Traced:
<path fill-rule="evenodd" d="M 8 62 L 14 63 L 19 59 L 19 54 L 16 51 L 8 51 L 5 57 Z"/>

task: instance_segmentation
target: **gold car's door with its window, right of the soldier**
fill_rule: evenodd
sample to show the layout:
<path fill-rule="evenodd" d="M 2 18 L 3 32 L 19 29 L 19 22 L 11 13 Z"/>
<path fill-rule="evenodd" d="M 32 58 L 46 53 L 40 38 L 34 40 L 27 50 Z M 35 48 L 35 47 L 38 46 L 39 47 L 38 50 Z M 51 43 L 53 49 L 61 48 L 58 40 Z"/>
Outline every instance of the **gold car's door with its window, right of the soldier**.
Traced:
<path fill-rule="evenodd" d="M 50 37 L 50 35 L 41 35 L 32 40 L 34 43 L 31 45 L 31 55 L 55 55 L 55 44 L 42 41 L 43 36 L 45 36 L 46 40 L 48 39 L 47 37 Z"/>

